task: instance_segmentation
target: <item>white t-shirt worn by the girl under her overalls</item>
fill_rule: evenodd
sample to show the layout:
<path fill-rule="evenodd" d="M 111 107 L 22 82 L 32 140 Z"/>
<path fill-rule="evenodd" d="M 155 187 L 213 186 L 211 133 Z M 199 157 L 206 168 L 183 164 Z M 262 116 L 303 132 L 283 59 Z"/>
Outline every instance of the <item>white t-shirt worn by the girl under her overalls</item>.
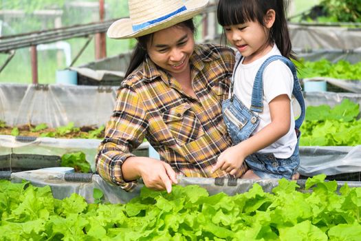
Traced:
<path fill-rule="evenodd" d="M 281 52 L 276 45 L 274 45 L 272 50 L 261 59 L 257 59 L 249 64 L 243 64 L 242 59 L 237 67 L 234 75 L 233 94 L 237 96 L 248 109 L 250 109 L 251 106 L 253 83 L 256 73 L 262 63 L 272 55 L 281 55 Z M 263 129 L 263 127 L 271 123 L 270 107 L 268 104 L 276 96 L 287 94 L 289 99 L 292 100 L 293 87 L 294 78 L 291 70 L 289 70 L 289 67 L 287 67 L 285 63 L 277 60 L 272 61 L 272 63 L 265 67 L 265 71 L 263 72 L 263 112 L 258 114 L 260 122 L 251 135 L 256 134 Z M 295 99 L 294 101 L 297 102 Z M 288 118 L 288 116 L 285 116 L 285 118 Z M 273 153 L 276 158 L 289 158 L 289 156 L 292 156 L 297 143 L 296 132 L 294 131 L 294 110 L 292 105 L 290 118 L 291 125 L 288 133 L 279 138 L 272 145 L 261 149 L 259 151 L 260 153 Z"/>

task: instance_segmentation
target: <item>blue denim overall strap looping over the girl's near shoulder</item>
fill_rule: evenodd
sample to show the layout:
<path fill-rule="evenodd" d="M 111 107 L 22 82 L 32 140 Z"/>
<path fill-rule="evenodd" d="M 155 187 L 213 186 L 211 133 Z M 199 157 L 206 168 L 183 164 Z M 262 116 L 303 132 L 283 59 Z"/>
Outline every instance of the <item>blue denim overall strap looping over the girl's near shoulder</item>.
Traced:
<path fill-rule="evenodd" d="M 254 112 L 262 112 L 263 110 L 263 72 L 265 70 L 265 67 L 272 61 L 280 60 L 285 65 L 289 67 L 291 70 L 293 76 L 294 76 L 294 89 L 292 90 L 292 94 L 300 104 L 301 108 L 301 114 L 300 117 L 295 121 L 295 127 L 297 129 L 300 128 L 300 125 L 302 125 L 303 120 L 305 119 L 305 100 L 302 95 L 302 88 L 300 87 L 300 82 L 297 78 L 297 72 L 296 67 L 294 66 L 294 63 L 290 61 L 289 59 L 285 58 L 281 55 L 272 55 L 268 59 L 265 60 L 265 62 L 262 63 L 261 67 L 259 68 L 256 77 L 254 78 L 254 84 L 253 84 L 253 90 L 252 90 L 252 103 L 250 109 Z"/>

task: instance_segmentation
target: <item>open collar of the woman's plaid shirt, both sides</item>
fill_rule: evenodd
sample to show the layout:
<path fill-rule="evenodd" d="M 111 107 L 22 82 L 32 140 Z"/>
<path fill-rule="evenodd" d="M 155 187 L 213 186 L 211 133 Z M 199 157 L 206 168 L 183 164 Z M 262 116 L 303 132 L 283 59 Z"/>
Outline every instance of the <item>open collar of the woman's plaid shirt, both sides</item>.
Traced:
<path fill-rule="evenodd" d="M 190 65 L 194 66 L 197 70 L 201 71 L 204 68 L 204 62 L 215 61 L 219 59 L 220 56 L 216 52 L 210 51 L 208 48 L 199 48 L 199 45 L 195 45 L 195 50 L 193 51 L 192 56 L 190 56 Z M 146 61 L 143 62 L 143 80 L 144 81 L 153 81 L 153 79 L 160 77 L 162 81 L 169 85 L 168 82 L 170 78 L 167 76 L 167 73 L 164 70 L 160 69 L 155 65 L 149 56 L 146 56 Z"/>

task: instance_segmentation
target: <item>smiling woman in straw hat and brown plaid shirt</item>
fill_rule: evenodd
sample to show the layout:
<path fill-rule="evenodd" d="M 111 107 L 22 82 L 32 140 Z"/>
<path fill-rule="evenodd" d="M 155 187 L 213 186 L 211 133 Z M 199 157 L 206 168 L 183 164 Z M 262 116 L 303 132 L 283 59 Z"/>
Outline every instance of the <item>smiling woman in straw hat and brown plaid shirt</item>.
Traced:
<path fill-rule="evenodd" d="M 147 187 L 171 192 L 176 174 L 230 177 L 211 170 L 231 145 L 221 101 L 228 97 L 234 52 L 195 44 L 192 18 L 207 3 L 129 0 L 130 19 L 109 27 L 109 37 L 136 38 L 138 44 L 98 149 L 96 169 L 127 191 L 138 178 Z M 131 154 L 144 138 L 162 160 Z M 241 166 L 232 177 L 241 177 L 246 169 Z"/>

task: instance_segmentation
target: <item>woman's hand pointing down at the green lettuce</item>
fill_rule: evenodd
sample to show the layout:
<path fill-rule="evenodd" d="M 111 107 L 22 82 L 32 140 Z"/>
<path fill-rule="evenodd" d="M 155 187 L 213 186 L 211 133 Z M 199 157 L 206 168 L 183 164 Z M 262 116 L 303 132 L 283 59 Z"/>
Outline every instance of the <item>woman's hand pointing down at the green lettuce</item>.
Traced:
<path fill-rule="evenodd" d="M 172 191 L 177 184 L 177 175 L 171 165 L 161 160 L 146 157 L 130 157 L 122 165 L 123 178 L 135 180 L 142 177 L 150 189 Z"/>

